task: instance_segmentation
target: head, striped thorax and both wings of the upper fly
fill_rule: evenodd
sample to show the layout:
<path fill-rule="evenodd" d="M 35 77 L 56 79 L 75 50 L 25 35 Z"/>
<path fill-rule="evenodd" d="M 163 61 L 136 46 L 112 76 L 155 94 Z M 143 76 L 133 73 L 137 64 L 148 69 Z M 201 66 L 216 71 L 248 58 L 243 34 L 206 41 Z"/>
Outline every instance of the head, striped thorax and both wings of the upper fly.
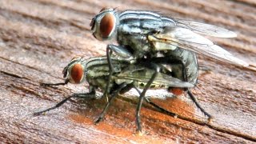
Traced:
<path fill-rule="evenodd" d="M 200 34 L 218 38 L 234 38 L 230 30 L 200 22 L 170 18 L 146 10 L 102 9 L 90 22 L 93 35 L 98 40 L 117 40 L 119 46 L 111 48 L 119 53 L 128 50 L 122 57 L 155 57 L 159 51 L 182 48 L 197 54 L 204 54 L 238 66 L 248 66 L 222 47 L 214 45 Z"/>

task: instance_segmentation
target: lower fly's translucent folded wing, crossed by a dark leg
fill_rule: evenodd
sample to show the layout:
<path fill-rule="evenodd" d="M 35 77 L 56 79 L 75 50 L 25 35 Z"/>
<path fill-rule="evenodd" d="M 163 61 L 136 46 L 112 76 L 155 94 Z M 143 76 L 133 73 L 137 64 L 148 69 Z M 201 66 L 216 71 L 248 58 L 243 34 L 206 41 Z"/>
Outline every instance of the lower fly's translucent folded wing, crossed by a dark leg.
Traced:
<path fill-rule="evenodd" d="M 115 76 L 115 79 L 126 79 L 133 80 L 137 82 L 149 82 L 151 76 L 154 74 L 154 70 L 150 69 L 137 69 L 137 70 L 124 70 L 122 73 Z M 153 85 L 157 86 L 171 86 L 171 87 L 184 87 L 191 88 L 194 87 L 193 84 L 189 82 L 182 82 L 178 78 L 171 77 L 167 74 L 159 73 L 158 76 L 154 79 Z"/>

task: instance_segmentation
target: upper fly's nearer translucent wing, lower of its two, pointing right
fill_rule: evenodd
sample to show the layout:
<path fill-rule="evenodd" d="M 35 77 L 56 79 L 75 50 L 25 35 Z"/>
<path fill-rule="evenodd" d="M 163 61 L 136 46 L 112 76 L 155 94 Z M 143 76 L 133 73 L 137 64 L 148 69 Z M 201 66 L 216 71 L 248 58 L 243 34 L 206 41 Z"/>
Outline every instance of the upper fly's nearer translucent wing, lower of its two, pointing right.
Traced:
<path fill-rule="evenodd" d="M 152 34 L 148 38 L 153 42 L 156 50 L 168 50 L 169 47 L 170 50 L 174 50 L 174 46 L 175 48 L 178 46 L 223 62 L 238 66 L 249 66 L 248 63 L 235 58 L 222 47 L 214 45 L 209 39 L 181 27 L 168 27 L 161 34 Z"/>

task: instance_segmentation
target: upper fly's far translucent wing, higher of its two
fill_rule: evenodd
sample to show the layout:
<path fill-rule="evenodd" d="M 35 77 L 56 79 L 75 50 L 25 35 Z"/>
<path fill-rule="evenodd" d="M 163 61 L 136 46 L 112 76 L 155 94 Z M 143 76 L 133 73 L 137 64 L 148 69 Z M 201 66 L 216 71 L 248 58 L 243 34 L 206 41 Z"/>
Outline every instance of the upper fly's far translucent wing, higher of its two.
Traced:
<path fill-rule="evenodd" d="M 174 19 L 174 22 L 176 22 L 176 26 L 178 27 L 190 29 L 199 34 L 206 34 L 218 38 L 234 38 L 237 36 L 233 31 L 205 23 L 190 22 L 182 19 Z"/>

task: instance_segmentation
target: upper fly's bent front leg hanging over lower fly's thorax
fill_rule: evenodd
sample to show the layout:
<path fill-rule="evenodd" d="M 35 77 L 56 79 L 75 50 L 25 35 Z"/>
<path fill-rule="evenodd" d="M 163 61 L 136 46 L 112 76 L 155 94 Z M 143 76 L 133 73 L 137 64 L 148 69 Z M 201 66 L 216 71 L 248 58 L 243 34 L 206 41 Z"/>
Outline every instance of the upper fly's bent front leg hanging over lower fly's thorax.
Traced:
<path fill-rule="evenodd" d="M 132 57 L 132 54 L 130 54 L 130 52 L 127 51 L 122 46 L 115 46 L 115 45 L 108 45 L 108 46 L 106 46 L 106 58 L 107 58 L 107 62 L 109 64 L 109 72 L 110 72 L 110 74 L 109 74 L 108 81 L 106 82 L 106 89 L 105 89 L 105 91 L 103 93 L 103 97 L 106 97 L 106 94 L 108 94 L 109 91 L 110 91 L 111 77 L 112 77 L 112 75 L 114 73 L 114 66 L 113 66 L 113 63 L 112 63 L 112 60 L 111 60 L 111 55 L 112 55 L 113 51 L 114 51 L 115 54 L 117 54 L 121 58 L 126 58 L 127 62 L 130 62 L 131 59 L 134 59 Z"/>

